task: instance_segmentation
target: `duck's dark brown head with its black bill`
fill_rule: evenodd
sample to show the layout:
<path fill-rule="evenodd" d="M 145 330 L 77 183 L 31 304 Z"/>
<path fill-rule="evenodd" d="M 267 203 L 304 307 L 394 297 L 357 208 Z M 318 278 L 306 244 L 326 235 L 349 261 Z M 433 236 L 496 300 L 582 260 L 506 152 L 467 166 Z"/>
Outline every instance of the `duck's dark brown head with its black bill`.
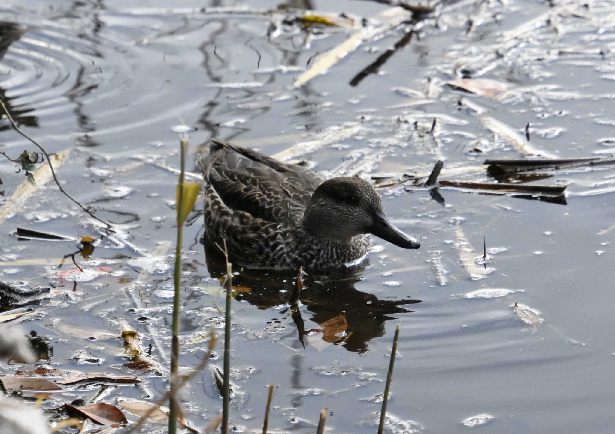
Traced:
<path fill-rule="evenodd" d="M 340 176 L 320 184 L 303 216 L 303 226 L 325 238 L 351 239 L 371 233 L 404 249 L 421 247 L 417 239 L 386 218 L 371 184 L 355 177 Z"/>

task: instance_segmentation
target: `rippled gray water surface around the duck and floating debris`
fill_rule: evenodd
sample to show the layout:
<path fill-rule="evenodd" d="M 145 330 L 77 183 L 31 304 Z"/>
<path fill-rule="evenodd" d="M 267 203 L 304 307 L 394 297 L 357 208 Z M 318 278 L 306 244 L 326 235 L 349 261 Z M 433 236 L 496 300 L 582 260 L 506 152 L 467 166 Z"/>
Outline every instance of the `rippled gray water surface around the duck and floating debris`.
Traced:
<path fill-rule="evenodd" d="M 359 17 L 387 7 L 301 3 L 293 6 Z M 0 223 L 0 280 L 55 286 L 54 296 L 14 320 L 47 339 L 54 350 L 50 365 L 119 374 L 111 366 L 126 361 L 121 339 L 87 338 L 94 334 L 88 330 L 119 336 L 124 319 L 143 333 L 145 347 L 160 343 L 165 354 L 154 345 L 153 357 L 167 365 L 177 182 L 169 168 L 179 166 L 173 131 L 184 123 L 191 129 L 192 171 L 210 136 L 269 155 L 319 143 L 291 159 L 307 160 L 325 176 L 359 174 L 389 185 L 379 188 L 386 213 L 422 243 L 410 251 L 376 239 L 375 251 L 354 274 L 305 276 L 298 311 L 304 329 L 322 329 L 341 314 L 346 319 L 328 337 L 319 331 L 304 336 L 305 347 L 288 305 L 296 273 L 237 270 L 234 285 L 242 288 L 232 304 L 231 358 L 237 391 L 231 426 L 237 431 L 260 430 L 266 387 L 274 383 L 272 432 L 315 432 L 322 408 L 328 408 L 331 432 L 376 432 L 398 324 L 388 432 L 464 432 L 465 419 L 485 413 L 493 419 L 474 429 L 613 431 L 613 167 L 546 171 L 530 180 L 566 185 L 565 204 L 561 198 L 552 203 L 446 187 L 438 189 L 438 202 L 411 182 L 391 184 L 402 174 L 429 174 L 437 160 L 445 170 L 460 168 L 440 179 L 494 182 L 484 168 L 468 168 L 485 158 L 526 157 L 504 134 L 487 128 L 485 117 L 524 140 L 529 123 L 531 145 L 557 158 L 611 155 L 615 3 L 448 4 L 426 20 L 363 43 L 295 90 L 292 84 L 308 63 L 356 30 L 280 27 L 282 12 L 199 11 L 256 11 L 275 2 L 176 6 L 21 1 L 0 7 L 0 20 L 28 26 L 0 62 L 0 96 L 23 131 L 48 152 L 71 150 L 58 171 L 63 186 L 122 229 L 108 236 L 51 182 Z M 272 17 L 279 32 L 272 31 Z M 418 39 L 413 36 L 378 72 L 351 85 L 411 26 Z M 463 71 L 509 92 L 475 96 L 445 84 Z M 12 158 L 33 150 L 6 120 L 0 122 L 0 147 Z M 0 206 L 25 181 L 16 170 L 0 159 Z M 223 331 L 215 308 L 223 304 L 220 271 L 199 242 L 199 209 L 197 204 L 184 234 L 180 364 L 186 372 L 205 357 L 207 342 L 197 337 L 212 326 L 218 336 Z M 70 258 L 62 268 L 57 263 L 77 250 L 76 241 L 20 241 L 15 231 L 23 227 L 100 239 L 89 260 L 78 254 L 76 260 L 103 268 L 89 277 L 58 274 L 74 268 Z M 475 268 L 463 266 L 464 260 Z M 464 297 L 481 289 L 514 292 Z M 531 324 L 515 303 L 533 309 Z M 84 348 L 102 360 L 100 366 L 77 362 L 74 355 Z M 221 368 L 220 348 L 212 363 Z M 0 366 L 2 373 L 17 368 Z M 164 393 L 165 378 L 150 373 L 143 379 L 140 387 L 113 386 L 102 401 Z M 98 390 L 57 393 L 44 406 L 76 396 L 92 400 Z M 183 400 L 194 426 L 215 416 L 221 399 L 210 370 L 196 376 Z M 149 432 L 164 430 L 149 426 Z"/>

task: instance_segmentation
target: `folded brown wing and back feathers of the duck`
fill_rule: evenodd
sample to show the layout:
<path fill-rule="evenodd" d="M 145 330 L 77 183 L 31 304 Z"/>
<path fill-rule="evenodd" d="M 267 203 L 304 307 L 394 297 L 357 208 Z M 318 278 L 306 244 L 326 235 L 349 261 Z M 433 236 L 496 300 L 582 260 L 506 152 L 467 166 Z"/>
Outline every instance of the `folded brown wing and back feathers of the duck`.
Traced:
<path fill-rule="evenodd" d="M 300 222 L 312 193 L 323 182 L 300 166 L 217 139 L 212 139 L 198 164 L 205 183 L 225 206 L 266 222 Z"/>

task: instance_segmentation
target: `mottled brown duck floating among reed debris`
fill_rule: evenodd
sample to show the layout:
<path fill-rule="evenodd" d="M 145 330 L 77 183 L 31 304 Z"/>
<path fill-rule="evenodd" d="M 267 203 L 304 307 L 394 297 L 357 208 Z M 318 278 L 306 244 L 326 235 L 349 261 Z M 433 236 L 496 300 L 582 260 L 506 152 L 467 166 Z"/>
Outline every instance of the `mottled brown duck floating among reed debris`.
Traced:
<path fill-rule="evenodd" d="M 371 235 L 403 249 L 421 244 L 396 228 L 374 187 L 359 177 L 324 179 L 299 165 L 212 138 L 204 174 L 204 240 L 226 244 L 245 268 L 330 269 L 357 264 Z"/>

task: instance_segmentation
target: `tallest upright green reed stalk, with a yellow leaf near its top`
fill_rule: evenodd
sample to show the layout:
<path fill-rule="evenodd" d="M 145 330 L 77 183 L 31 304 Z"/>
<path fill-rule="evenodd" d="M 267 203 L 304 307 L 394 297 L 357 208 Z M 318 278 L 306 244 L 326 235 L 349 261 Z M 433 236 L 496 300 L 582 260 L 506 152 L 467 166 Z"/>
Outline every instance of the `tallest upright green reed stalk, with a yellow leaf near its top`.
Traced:
<path fill-rule="evenodd" d="M 171 378 L 169 395 L 169 434 L 177 431 L 177 366 L 180 358 L 180 281 L 181 281 L 181 242 L 184 233 L 184 222 L 181 214 L 184 209 L 184 173 L 186 171 L 186 148 L 188 141 L 180 138 L 180 179 L 177 188 L 177 244 L 175 246 L 175 271 L 173 273 L 173 338 L 171 341 Z"/>

